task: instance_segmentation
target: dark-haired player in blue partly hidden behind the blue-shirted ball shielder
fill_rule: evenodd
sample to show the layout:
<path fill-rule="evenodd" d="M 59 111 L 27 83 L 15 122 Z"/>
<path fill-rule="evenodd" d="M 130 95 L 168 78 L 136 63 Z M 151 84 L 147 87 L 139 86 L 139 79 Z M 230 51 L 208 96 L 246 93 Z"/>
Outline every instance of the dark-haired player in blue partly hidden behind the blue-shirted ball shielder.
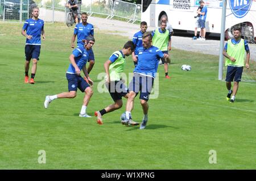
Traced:
<path fill-rule="evenodd" d="M 137 32 L 133 36 L 133 43 L 135 44 L 135 51 L 131 54 L 133 57 L 134 66 L 137 66 L 138 64 L 138 48 L 143 47 L 142 46 L 142 36 L 144 32 L 147 31 L 147 23 L 141 22 L 141 31 Z"/>

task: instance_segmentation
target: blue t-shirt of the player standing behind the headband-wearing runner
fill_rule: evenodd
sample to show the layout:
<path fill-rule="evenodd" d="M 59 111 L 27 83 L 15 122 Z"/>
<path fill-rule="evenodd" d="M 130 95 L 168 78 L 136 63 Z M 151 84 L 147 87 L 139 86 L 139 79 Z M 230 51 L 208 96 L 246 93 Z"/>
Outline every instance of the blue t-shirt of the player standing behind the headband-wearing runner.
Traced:
<path fill-rule="evenodd" d="M 74 35 L 77 35 L 77 47 L 84 47 L 84 40 L 89 35 L 94 35 L 94 28 L 93 25 L 87 23 L 85 26 L 82 23 L 76 25 L 74 29 Z"/>

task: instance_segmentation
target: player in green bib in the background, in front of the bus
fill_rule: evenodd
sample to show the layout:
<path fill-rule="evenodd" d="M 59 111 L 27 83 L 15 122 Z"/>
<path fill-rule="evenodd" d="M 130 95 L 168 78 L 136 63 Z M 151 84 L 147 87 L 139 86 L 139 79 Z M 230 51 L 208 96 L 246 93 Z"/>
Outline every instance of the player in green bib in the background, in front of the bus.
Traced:
<path fill-rule="evenodd" d="M 156 28 L 152 32 L 152 45 L 159 48 L 163 53 L 168 54 L 168 51 L 171 50 L 171 32 L 166 29 L 166 22 L 161 22 L 160 28 Z M 166 78 L 170 79 L 168 75 L 168 63 L 170 63 L 170 58 L 161 58 L 162 63 L 164 64 L 164 73 Z"/>

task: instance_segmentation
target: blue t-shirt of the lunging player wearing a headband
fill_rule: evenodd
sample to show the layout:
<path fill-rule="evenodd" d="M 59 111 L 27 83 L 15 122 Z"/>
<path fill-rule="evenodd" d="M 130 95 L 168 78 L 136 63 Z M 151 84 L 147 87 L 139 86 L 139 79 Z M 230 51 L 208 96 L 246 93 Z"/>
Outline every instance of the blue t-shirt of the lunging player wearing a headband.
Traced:
<path fill-rule="evenodd" d="M 88 61 L 89 54 L 88 54 L 87 50 L 85 48 L 83 48 L 83 47 L 77 47 L 75 50 L 73 50 L 72 54 L 75 56 L 76 65 L 81 70 L 82 67 Z M 75 68 L 73 67 L 72 64 L 69 64 L 67 73 L 69 73 L 69 74 L 76 74 L 76 70 L 75 70 Z"/>

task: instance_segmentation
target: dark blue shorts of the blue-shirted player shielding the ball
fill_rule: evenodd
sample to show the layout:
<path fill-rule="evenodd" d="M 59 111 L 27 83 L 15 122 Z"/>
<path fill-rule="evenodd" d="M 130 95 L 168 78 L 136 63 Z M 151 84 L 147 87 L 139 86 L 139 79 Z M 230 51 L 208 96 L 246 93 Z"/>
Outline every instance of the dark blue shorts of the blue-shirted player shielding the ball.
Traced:
<path fill-rule="evenodd" d="M 129 84 L 129 91 L 134 91 L 136 96 L 141 92 L 139 99 L 148 101 L 153 84 L 153 77 L 134 73 L 133 80 Z"/>

